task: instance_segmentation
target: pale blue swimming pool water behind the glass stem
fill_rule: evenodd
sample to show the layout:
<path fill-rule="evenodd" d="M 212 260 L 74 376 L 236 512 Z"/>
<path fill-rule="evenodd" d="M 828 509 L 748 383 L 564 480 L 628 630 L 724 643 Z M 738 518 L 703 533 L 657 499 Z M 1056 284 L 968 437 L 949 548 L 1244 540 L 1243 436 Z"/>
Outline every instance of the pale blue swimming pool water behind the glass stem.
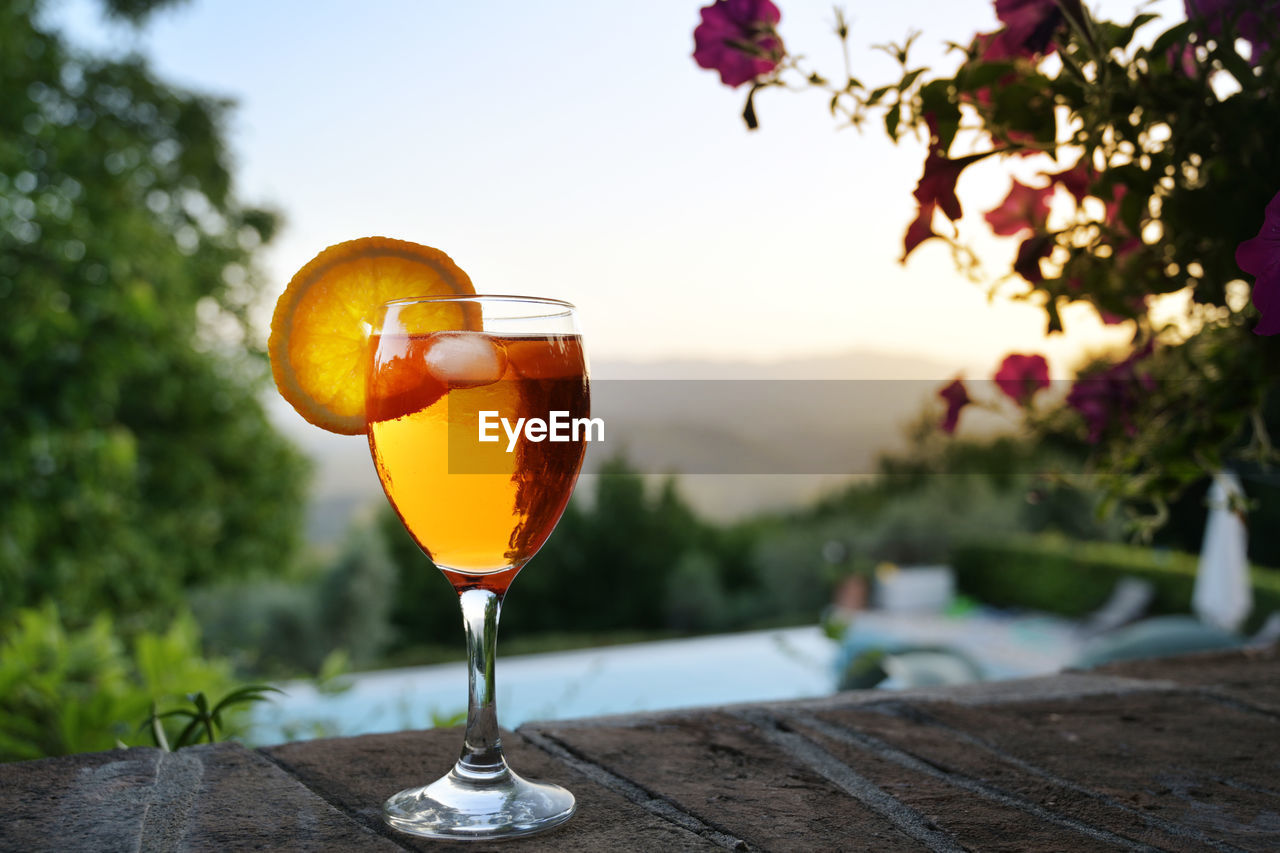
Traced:
<path fill-rule="evenodd" d="M 503 657 L 497 663 L 498 722 L 659 711 L 826 695 L 835 690 L 837 644 L 818 628 Z M 466 711 L 466 665 L 442 663 L 352 675 L 340 693 L 307 681 L 256 706 L 250 739 L 424 729 Z M 435 720 L 433 720 L 433 717 Z"/>

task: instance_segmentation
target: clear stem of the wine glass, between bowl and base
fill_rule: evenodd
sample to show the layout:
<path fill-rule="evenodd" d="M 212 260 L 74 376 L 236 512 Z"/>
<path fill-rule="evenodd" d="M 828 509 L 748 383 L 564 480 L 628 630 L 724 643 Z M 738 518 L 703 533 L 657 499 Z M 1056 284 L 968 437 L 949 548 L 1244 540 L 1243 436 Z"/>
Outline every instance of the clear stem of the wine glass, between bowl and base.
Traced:
<path fill-rule="evenodd" d="M 458 602 L 462 605 L 462 626 L 467 633 L 467 681 L 471 690 L 467 701 L 467 733 L 454 772 L 475 781 L 498 779 L 509 772 L 502 757 L 493 681 L 502 596 L 488 589 L 466 589 L 458 594 Z"/>

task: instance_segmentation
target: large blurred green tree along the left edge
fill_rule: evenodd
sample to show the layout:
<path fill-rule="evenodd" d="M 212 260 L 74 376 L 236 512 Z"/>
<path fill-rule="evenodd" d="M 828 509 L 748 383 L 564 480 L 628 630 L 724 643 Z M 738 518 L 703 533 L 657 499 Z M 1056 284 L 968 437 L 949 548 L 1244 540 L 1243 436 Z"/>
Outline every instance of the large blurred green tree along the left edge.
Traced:
<path fill-rule="evenodd" d="M 165 3 L 114 0 L 131 20 Z M 305 475 L 247 314 L 271 214 L 232 193 L 228 102 L 0 4 L 0 617 L 133 617 L 276 571 Z"/>

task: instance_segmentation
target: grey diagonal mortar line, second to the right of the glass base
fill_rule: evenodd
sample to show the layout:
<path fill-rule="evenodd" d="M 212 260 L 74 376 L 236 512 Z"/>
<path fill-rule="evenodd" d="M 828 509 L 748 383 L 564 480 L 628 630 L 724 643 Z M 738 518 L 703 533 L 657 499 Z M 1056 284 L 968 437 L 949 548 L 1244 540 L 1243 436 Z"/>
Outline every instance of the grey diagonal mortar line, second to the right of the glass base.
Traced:
<path fill-rule="evenodd" d="M 924 844 L 934 853 L 960 853 L 969 848 L 931 825 L 920 812 L 887 793 L 845 762 L 796 731 L 786 731 L 778 720 L 764 711 L 735 710 L 730 713 L 751 724 L 774 747 L 840 788 L 859 803 L 882 816 L 902 834 Z"/>

